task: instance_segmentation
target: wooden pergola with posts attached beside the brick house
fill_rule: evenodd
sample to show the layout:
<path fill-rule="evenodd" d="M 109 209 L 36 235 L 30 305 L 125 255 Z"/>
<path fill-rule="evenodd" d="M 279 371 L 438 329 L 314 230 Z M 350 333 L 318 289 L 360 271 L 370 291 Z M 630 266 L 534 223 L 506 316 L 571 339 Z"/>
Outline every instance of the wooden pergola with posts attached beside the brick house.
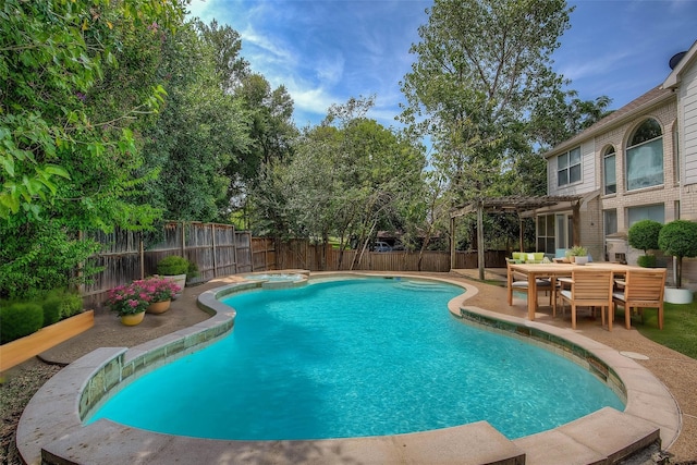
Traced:
<path fill-rule="evenodd" d="M 488 213 L 516 213 L 522 222 L 525 217 L 533 216 L 535 210 L 546 207 L 555 207 L 560 204 L 568 203 L 572 209 L 572 229 L 573 237 L 580 237 L 579 209 L 584 197 L 577 195 L 564 196 L 509 196 L 499 198 L 479 198 L 462 207 L 454 208 L 450 212 L 450 268 L 455 267 L 455 219 L 467 213 L 477 212 L 477 260 L 479 264 L 479 279 L 484 280 L 484 225 L 482 218 L 485 211 Z M 527 215 L 525 215 L 527 213 Z M 521 224 L 521 250 L 524 249 L 523 244 L 523 224 Z"/>

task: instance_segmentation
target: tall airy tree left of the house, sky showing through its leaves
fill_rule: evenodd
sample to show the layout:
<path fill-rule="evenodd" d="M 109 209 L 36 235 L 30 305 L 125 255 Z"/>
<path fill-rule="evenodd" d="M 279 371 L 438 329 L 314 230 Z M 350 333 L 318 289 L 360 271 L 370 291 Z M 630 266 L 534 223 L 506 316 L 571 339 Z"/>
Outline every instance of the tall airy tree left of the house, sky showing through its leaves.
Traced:
<path fill-rule="evenodd" d="M 436 0 L 401 83 L 401 120 L 429 135 L 457 201 L 488 195 L 516 134 L 562 82 L 551 70 L 568 27 L 563 0 Z"/>

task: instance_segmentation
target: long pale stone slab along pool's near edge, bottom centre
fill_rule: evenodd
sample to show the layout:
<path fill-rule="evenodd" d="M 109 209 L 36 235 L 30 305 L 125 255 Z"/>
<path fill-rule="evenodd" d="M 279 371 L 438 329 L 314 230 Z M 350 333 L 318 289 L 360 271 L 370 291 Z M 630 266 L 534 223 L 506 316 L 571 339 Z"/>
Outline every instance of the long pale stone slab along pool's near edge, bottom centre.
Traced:
<path fill-rule="evenodd" d="M 100 419 L 41 450 L 41 463 L 524 465 L 525 453 L 486 421 L 411 435 L 321 441 L 216 441 L 158 435 Z"/>

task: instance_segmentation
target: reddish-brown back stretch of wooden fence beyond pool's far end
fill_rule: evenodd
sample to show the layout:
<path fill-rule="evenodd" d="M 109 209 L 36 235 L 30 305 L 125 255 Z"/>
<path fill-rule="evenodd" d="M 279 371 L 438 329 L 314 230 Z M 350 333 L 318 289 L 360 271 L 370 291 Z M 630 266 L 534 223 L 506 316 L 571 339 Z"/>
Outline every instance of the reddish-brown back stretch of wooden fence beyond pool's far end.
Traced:
<path fill-rule="evenodd" d="M 309 244 L 296 240 L 284 242 L 276 252 L 280 269 L 307 269 L 310 271 L 419 271 L 418 252 L 364 252 L 344 250 Z M 505 268 L 505 250 L 485 252 L 485 267 Z M 341 259 L 341 262 L 340 262 Z M 477 252 L 456 252 L 454 268 L 478 268 Z M 420 271 L 450 271 L 450 253 L 425 252 Z"/>

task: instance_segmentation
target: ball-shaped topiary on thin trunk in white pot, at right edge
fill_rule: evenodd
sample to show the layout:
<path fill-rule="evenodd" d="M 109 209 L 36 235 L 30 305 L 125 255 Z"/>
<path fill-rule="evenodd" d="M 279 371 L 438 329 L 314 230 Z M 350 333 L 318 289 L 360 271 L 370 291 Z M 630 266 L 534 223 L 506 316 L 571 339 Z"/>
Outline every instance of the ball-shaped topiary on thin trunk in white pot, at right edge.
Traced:
<path fill-rule="evenodd" d="M 665 255 L 672 255 L 675 260 L 675 287 L 665 289 L 665 302 L 672 304 L 689 304 L 693 292 L 682 289 L 683 257 L 697 257 L 697 223 L 687 220 L 675 220 L 661 229 L 658 245 Z"/>

